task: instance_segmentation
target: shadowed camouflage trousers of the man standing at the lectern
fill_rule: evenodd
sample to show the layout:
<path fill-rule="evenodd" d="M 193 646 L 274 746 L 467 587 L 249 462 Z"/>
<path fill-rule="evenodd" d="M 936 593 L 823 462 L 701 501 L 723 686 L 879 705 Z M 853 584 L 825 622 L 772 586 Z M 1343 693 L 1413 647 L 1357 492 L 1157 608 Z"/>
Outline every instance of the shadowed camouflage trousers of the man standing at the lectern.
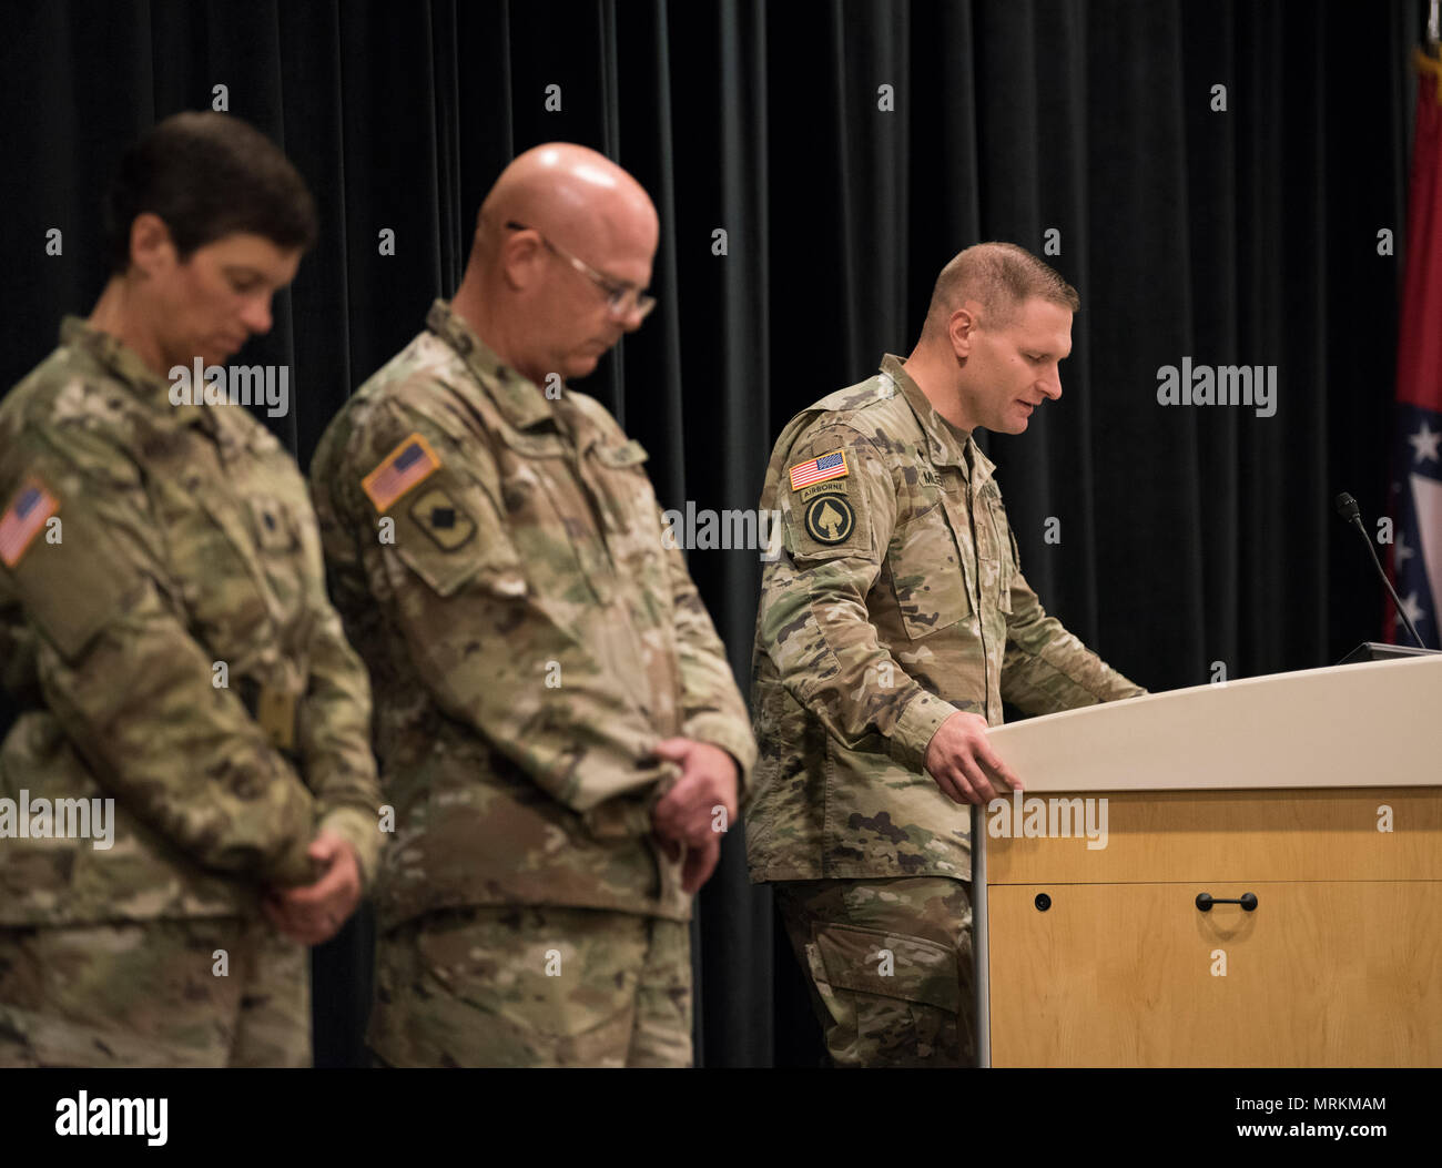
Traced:
<path fill-rule="evenodd" d="M 832 1064 L 976 1064 L 969 893 L 946 877 L 776 885 Z"/>

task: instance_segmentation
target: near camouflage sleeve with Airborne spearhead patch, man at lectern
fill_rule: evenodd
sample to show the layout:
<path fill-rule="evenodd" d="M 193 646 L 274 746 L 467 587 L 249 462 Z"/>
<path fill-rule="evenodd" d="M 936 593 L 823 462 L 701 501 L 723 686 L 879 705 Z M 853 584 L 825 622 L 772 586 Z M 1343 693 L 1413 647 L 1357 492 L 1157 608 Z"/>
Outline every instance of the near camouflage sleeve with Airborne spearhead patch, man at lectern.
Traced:
<path fill-rule="evenodd" d="M 845 493 L 808 499 L 792 490 L 786 467 L 836 450 L 848 473 L 829 483 Z M 828 421 L 803 433 L 779 466 L 784 545 L 761 580 L 758 636 L 786 689 L 828 734 L 848 748 L 881 735 L 893 758 L 921 770 L 932 735 L 957 711 L 906 672 L 868 620 L 867 594 L 897 518 L 887 463 L 859 431 Z"/>

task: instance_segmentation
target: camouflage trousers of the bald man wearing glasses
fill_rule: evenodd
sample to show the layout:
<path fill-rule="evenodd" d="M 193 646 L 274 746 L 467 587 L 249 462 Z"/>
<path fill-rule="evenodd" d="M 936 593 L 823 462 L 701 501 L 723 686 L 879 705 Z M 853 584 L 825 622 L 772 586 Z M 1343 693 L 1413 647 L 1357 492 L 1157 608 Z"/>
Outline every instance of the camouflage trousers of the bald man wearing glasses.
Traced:
<path fill-rule="evenodd" d="M 394 1067 L 688 1067 L 691 927 L 596 908 L 428 913 L 376 940 Z"/>

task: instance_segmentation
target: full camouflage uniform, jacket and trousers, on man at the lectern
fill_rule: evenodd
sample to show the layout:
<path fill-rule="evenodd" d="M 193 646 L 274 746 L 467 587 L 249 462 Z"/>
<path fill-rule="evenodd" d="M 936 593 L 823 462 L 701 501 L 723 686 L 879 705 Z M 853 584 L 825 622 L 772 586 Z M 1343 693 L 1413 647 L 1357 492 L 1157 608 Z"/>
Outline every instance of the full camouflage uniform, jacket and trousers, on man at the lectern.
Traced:
<path fill-rule="evenodd" d="M 757 613 L 747 855 L 754 881 L 787 884 L 779 908 L 838 1063 L 973 1057 L 969 815 L 923 769 L 942 722 L 998 725 L 1004 698 L 1051 714 L 1144 692 L 1043 611 L 992 470 L 887 355 L 797 414 L 766 473 L 784 549 Z"/>

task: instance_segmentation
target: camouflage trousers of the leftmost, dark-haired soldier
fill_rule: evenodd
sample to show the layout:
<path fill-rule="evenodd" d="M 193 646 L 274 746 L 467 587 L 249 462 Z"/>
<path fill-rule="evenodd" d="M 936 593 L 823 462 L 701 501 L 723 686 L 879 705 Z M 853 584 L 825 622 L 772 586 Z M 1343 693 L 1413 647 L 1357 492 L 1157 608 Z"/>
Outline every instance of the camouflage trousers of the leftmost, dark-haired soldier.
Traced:
<path fill-rule="evenodd" d="M 265 920 L 0 929 L 0 1067 L 309 1066 L 310 950 Z"/>

